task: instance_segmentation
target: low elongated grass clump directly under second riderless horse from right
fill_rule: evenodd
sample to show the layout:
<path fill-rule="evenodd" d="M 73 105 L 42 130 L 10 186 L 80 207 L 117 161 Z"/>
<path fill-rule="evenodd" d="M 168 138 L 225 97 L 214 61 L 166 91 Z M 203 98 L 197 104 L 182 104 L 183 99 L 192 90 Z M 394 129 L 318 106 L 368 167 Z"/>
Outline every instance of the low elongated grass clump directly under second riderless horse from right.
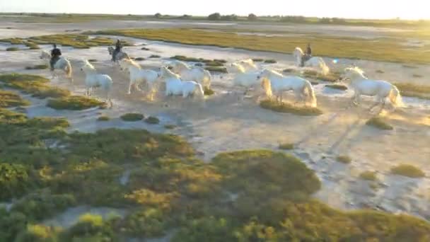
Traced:
<path fill-rule="evenodd" d="M 289 103 L 279 103 L 275 100 L 262 100 L 260 107 L 273 110 L 278 113 L 291 113 L 294 115 L 312 116 L 321 115 L 322 111 L 318 108 L 306 107 L 306 106 L 295 106 Z"/>

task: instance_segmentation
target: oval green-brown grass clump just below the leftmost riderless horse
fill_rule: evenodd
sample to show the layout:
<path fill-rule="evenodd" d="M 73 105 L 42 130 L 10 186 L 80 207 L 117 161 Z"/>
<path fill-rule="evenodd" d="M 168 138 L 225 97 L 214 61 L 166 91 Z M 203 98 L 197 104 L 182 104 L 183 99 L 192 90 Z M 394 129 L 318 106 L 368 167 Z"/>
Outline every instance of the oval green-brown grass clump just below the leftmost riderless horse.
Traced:
<path fill-rule="evenodd" d="M 106 103 L 85 96 L 66 96 L 48 100 L 47 106 L 56 110 L 86 110 L 88 108 L 105 108 Z"/>

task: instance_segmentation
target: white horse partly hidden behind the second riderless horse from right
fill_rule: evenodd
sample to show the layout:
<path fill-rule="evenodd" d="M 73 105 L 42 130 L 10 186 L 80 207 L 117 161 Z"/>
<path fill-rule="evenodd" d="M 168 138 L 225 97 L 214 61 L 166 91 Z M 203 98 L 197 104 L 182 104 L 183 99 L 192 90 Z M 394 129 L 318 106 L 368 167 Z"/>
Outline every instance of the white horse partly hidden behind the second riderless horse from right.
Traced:
<path fill-rule="evenodd" d="M 228 66 L 228 72 L 236 73 L 236 76 L 233 78 L 234 86 L 242 86 L 245 88 L 246 95 L 250 88 L 258 86 L 260 81 L 257 79 L 257 76 L 260 75 L 258 71 L 246 72 L 245 68 L 238 63 L 232 63 Z"/>

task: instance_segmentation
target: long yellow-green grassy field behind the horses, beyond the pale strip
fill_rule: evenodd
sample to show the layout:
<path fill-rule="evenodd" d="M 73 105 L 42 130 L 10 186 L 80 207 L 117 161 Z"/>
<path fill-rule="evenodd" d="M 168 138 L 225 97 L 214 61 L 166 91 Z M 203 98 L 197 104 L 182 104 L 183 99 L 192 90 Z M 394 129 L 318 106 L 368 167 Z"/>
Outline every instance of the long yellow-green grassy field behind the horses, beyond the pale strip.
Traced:
<path fill-rule="evenodd" d="M 405 50 L 402 42 L 395 38 L 366 40 L 362 38 L 318 35 L 316 36 L 318 37 L 318 42 L 315 42 L 315 35 L 265 37 L 238 35 L 234 32 L 211 32 L 194 29 L 102 30 L 90 33 L 98 35 L 122 35 L 148 40 L 178 42 L 187 45 L 236 47 L 245 50 L 288 54 L 291 54 L 295 47 L 301 46 L 303 43 L 313 42 L 313 49 L 317 56 L 419 64 L 430 62 L 429 46 L 414 47 Z"/>

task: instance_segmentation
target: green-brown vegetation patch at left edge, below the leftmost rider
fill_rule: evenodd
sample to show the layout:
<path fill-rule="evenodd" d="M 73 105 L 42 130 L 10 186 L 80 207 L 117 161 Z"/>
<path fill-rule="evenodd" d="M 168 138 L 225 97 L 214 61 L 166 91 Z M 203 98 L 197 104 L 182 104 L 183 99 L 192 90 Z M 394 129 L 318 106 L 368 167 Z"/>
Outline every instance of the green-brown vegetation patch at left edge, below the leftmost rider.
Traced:
<path fill-rule="evenodd" d="M 62 98 L 70 95 L 70 91 L 49 85 L 50 80 L 35 75 L 4 74 L 0 81 L 9 88 L 15 88 L 24 93 L 30 93 L 36 98 Z"/>

